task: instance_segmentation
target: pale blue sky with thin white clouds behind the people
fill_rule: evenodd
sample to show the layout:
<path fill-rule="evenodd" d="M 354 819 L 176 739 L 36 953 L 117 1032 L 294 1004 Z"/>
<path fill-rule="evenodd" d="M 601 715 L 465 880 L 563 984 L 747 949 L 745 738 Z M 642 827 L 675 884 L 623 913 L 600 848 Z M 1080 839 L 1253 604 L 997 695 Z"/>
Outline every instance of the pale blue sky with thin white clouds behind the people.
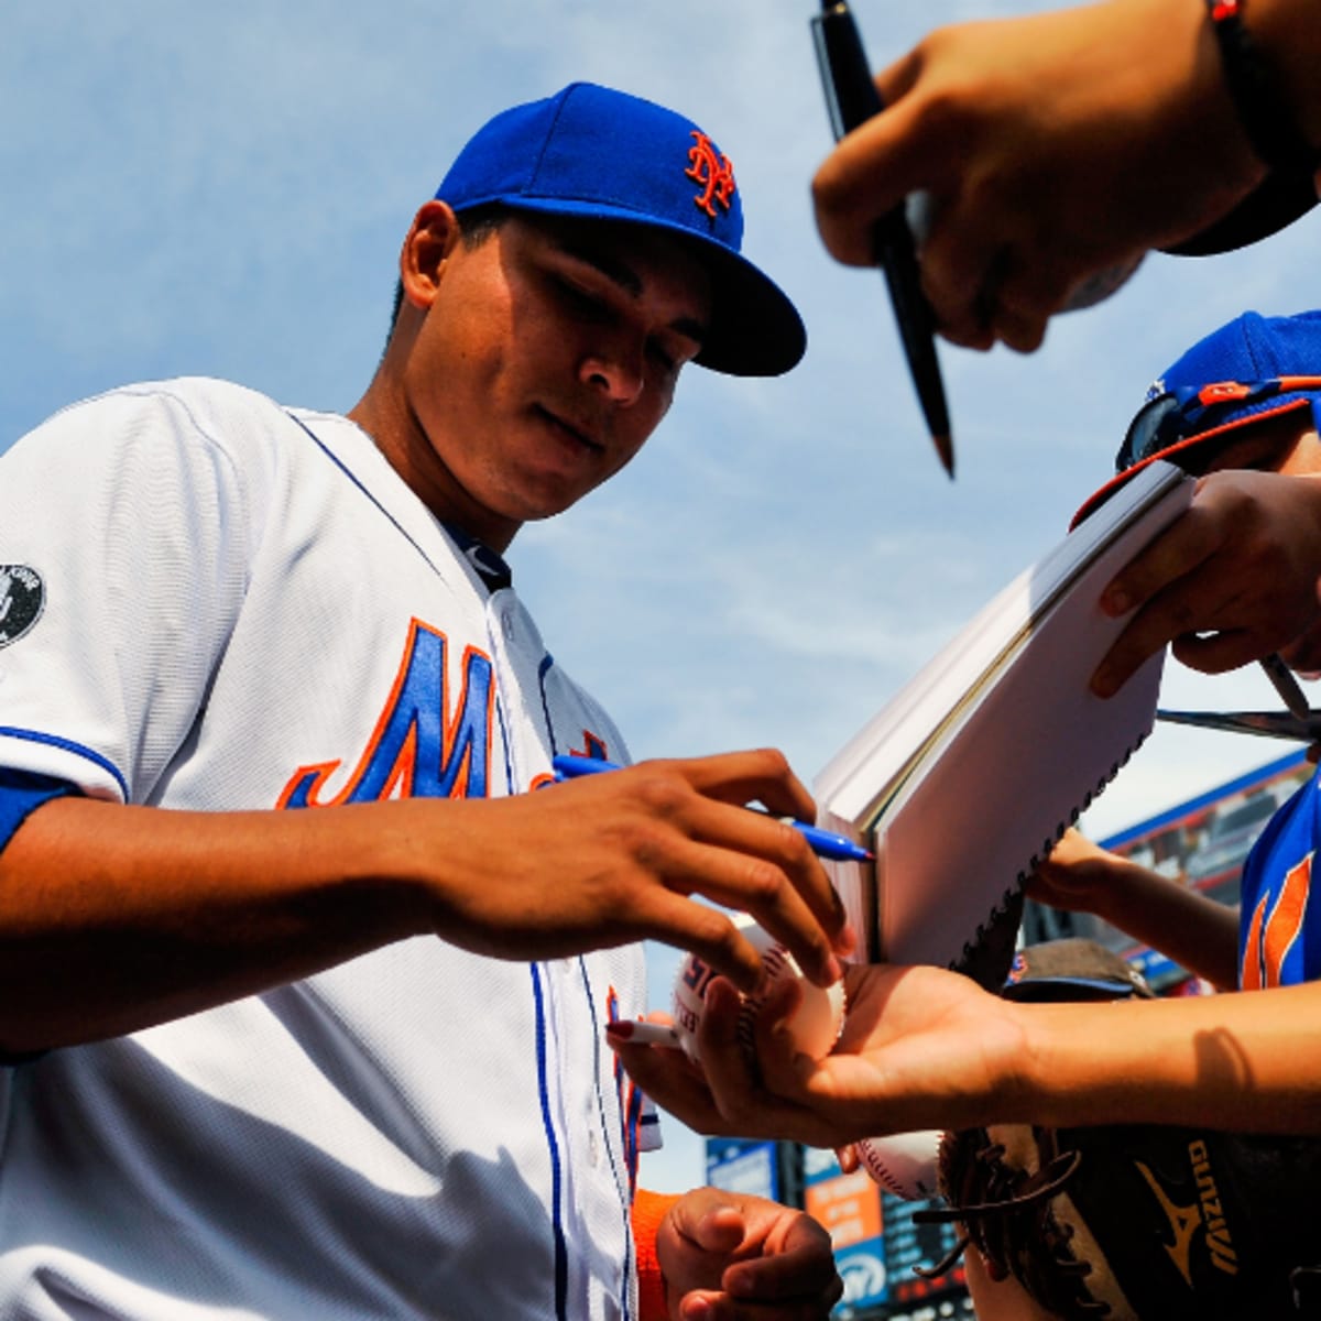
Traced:
<path fill-rule="evenodd" d="M 929 26 L 1024 3 L 856 0 L 877 63 Z M 922 433 L 878 275 L 816 240 L 828 128 L 786 0 L 165 0 L 0 9 L 0 449 L 125 380 L 227 376 L 350 407 L 398 244 L 486 118 L 575 78 L 672 104 L 732 157 L 746 251 L 798 301 L 804 363 L 692 371 L 614 483 L 524 530 L 515 580 L 635 756 L 773 744 L 811 781 L 1063 532 L 1148 380 L 1244 308 L 1321 303 L 1316 215 L 1214 260 L 1152 256 L 1032 357 L 943 350 L 959 476 Z M 1170 705 L 1269 704 L 1256 671 L 1172 666 Z M 1157 729 L 1085 819 L 1102 835 L 1280 745 Z M 655 951 L 658 1003 L 674 956 Z M 671 1124 L 645 1178 L 701 1178 Z"/>

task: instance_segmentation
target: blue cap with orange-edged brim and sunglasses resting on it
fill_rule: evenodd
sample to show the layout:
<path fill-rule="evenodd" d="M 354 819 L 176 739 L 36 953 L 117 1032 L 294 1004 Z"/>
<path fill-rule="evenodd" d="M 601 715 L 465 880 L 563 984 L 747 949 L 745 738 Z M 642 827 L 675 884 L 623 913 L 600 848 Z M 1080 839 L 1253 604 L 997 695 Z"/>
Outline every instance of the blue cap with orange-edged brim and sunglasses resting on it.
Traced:
<path fill-rule="evenodd" d="M 1310 408 L 1321 429 L 1321 312 L 1244 312 L 1199 339 L 1147 387 L 1115 456 L 1116 477 L 1074 515 L 1077 526 L 1148 464 L 1205 472 L 1229 433 Z"/>

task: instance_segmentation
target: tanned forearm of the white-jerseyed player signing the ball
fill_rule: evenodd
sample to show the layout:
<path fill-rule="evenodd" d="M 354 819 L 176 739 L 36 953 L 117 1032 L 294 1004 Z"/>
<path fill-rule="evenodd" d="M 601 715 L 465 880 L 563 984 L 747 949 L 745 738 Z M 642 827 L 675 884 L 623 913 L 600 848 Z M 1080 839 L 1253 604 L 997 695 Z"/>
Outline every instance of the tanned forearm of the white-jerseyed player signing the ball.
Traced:
<path fill-rule="evenodd" d="M 0 1048 L 133 1030 L 423 930 L 398 806 L 46 803 L 0 853 Z"/>

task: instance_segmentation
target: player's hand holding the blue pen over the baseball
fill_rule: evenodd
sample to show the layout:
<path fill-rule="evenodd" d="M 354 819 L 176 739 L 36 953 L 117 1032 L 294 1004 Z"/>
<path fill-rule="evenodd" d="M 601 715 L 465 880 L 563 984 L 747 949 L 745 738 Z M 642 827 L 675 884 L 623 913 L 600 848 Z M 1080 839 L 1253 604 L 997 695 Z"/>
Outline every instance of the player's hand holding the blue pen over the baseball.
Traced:
<path fill-rule="evenodd" d="M 843 905 L 802 834 L 748 811 L 750 802 L 798 820 L 815 814 L 783 756 L 769 750 L 642 762 L 446 804 L 465 824 L 437 836 L 435 929 L 517 959 L 662 941 L 753 989 L 757 951 L 723 911 L 692 898 L 701 896 L 750 913 L 828 985 L 852 947 Z"/>

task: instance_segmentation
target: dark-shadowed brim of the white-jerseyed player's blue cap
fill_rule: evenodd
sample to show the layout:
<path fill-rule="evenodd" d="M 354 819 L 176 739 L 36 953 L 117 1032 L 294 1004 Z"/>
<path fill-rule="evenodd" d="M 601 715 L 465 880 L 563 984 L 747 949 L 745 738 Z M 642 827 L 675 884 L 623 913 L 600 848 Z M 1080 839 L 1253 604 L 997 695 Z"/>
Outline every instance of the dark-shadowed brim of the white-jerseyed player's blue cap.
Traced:
<path fill-rule="evenodd" d="M 807 350 L 807 330 L 789 295 L 746 258 L 717 239 L 682 225 L 639 215 L 622 206 L 526 194 L 465 202 L 464 210 L 499 202 L 514 211 L 576 215 L 584 219 L 641 225 L 663 230 L 688 244 L 711 276 L 711 324 L 701 351 L 692 359 L 731 376 L 778 376 L 797 366 Z"/>

